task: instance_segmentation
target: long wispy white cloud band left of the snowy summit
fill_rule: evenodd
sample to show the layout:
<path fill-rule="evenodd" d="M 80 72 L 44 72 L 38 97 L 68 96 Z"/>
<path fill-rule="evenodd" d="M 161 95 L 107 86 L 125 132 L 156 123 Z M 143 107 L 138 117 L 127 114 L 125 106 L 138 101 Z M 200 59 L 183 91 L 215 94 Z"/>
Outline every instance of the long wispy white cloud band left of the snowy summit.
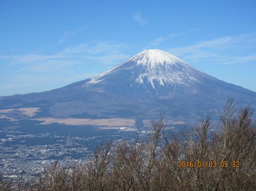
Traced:
<path fill-rule="evenodd" d="M 113 41 L 91 41 L 68 47 L 54 55 L 28 54 L 2 57 L 9 60 L 9 67 L 15 68 L 14 71 L 5 76 L 17 75 L 20 72 L 56 73 L 61 70 L 65 74 L 69 69 L 77 69 L 78 65 L 86 65 L 89 60 L 99 65 L 118 64 L 117 62 L 120 60 L 123 61 L 128 58 L 128 55 L 122 53 L 128 47 L 126 44 Z"/>

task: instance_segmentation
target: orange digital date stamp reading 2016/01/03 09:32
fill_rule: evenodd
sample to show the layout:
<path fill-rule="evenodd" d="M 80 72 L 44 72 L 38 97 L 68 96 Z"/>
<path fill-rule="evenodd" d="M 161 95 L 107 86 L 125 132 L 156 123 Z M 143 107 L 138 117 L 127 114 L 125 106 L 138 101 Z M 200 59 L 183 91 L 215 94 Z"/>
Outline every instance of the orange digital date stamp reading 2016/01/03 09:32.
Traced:
<path fill-rule="evenodd" d="M 178 161 L 178 167 L 179 168 L 216 168 L 216 167 L 221 167 L 221 168 L 228 168 L 228 167 L 233 167 L 233 168 L 239 168 L 239 161 L 221 161 L 221 162 L 216 162 L 215 160 L 207 160 L 207 161 Z"/>

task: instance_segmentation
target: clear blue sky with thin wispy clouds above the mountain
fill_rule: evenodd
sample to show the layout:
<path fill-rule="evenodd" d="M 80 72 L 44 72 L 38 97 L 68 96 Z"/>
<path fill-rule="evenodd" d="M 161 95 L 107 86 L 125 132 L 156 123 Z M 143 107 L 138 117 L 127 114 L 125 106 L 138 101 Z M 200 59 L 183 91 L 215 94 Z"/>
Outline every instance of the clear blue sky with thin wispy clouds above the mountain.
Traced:
<path fill-rule="evenodd" d="M 256 91 L 256 1 L 0 0 L 0 96 L 84 80 L 162 49 Z"/>

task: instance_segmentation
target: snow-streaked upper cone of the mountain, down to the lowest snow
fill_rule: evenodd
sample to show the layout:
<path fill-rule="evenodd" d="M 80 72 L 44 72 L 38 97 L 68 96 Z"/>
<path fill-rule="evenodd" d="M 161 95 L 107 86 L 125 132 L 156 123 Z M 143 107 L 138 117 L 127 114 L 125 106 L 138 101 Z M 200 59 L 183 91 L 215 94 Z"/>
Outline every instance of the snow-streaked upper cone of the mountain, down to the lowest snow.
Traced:
<path fill-rule="evenodd" d="M 124 84 L 129 81 L 130 87 L 151 85 L 153 89 L 157 89 L 157 86 L 176 84 L 189 86 L 190 82 L 198 81 L 198 73 L 201 74 L 176 56 L 158 49 L 146 49 L 120 65 L 91 78 L 86 84 Z"/>

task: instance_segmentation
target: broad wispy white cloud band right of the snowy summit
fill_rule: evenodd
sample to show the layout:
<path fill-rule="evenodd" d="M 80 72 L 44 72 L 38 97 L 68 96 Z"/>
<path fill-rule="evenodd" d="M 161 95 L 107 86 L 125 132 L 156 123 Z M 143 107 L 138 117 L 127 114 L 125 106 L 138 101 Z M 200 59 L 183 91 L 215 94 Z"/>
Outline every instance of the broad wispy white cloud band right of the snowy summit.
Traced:
<path fill-rule="evenodd" d="M 189 62 L 211 61 L 218 64 L 256 62 L 256 35 L 223 36 L 193 45 L 167 49 Z"/>

